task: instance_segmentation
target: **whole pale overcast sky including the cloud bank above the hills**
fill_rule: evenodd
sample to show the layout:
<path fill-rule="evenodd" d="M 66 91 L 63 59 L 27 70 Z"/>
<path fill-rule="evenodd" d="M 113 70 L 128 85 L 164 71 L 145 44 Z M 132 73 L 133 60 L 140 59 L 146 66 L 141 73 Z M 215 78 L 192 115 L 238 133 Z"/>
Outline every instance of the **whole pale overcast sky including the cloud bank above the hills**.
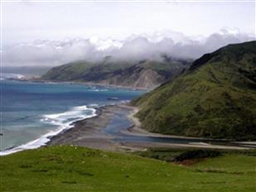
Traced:
<path fill-rule="evenodd" d="M 2 2 L 3 65 L 196 58 L 254 34 L 254 1 Z"/>

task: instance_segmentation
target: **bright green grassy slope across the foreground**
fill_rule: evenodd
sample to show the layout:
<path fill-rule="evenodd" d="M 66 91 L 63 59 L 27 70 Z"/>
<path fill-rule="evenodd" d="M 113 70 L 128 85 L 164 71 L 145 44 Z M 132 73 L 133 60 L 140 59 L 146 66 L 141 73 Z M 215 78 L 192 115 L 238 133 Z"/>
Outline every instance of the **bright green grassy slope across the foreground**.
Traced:
<path fill-rule="evenodd" d="M 0 191 L 255 191 L 256 157 L 225 154 L 178 166 L 79 146 L 0 157 Z"/>

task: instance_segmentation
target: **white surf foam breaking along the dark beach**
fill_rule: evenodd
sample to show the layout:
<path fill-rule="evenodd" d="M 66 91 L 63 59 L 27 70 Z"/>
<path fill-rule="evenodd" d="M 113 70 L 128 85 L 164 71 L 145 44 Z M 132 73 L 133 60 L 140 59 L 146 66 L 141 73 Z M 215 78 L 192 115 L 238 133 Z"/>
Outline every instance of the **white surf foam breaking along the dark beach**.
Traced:
<path fill-rule="evenodd" d="M 47 124 L 56 125 L 56 130 L 46 133 L 45 135 L 39 137 L 38 139 L 27 142 L 21 146 L 17 146 L 6 151 L 0 151 L 0 156 L 6 156 L 17 151 L 24 151 L 28 149 L 36 149 L 40 146 L 45 146 L 47 142 L 51 140 L 51 137 L 56 136 L 60 132 L 68 130 L 74 127 L 73 122 L 82 120 L 84 118 L 93 118 L 97 116 L 95 108 L 87 108 L 87 106 L 79 106 L 75 108 L 71 108 L 71 110 L 65 113 L 55 113 L 55 114 L 47 114 L 41 118 L 41 122 L 45 122 Z"/>

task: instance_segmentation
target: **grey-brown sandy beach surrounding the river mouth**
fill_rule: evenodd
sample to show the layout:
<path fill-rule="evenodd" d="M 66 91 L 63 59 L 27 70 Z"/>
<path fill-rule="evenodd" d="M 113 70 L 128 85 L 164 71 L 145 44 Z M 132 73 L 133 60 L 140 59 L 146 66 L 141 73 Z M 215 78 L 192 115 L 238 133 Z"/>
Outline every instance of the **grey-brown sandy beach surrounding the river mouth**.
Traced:
<path fill-rule="evenodd" d="M 191 137 L 177 137 L 166 136 L 157 133 L 151 133 L 141 128 L 141 123 L 138 118 L 134 117 L 134 114 L 138 112 L 138 108 L 130 107 L 128 105 L 112 105 L 98 108 L 98 116 L 94 118 L 84 119 L 74 123 L 74 127 L 61 132 L 55 137 L 51 138 L 51 141 L 47 145 L 75 145 L 75 146 L 87 146 L 95 149 L 101 149 L 106 151 L 138 151 L 145 150 L 148 147 L 202 147 L 202 148 L 218 148 L 218 149 L 247 149 L 246 145 L 237 146 L 225 146 L 225 145 L 211 145 L 209 143 L 200 142 L 202 138 L 197 138 L 197 142 L 190 143 L 170 143 L 170 142 L 118 142 L 114 141 L 116 136 L 109 135 L 104 131 L 104 128 L 108 126 L 114 115 L 117 115 L 121 111 L 128 112 L 127 118 L 133 122 L 130 127 L 125 127 L 122 131 L 123 134 L 128 136 L 140 136 L 140 137 L 164 137 L 164 138 L 176 138 L 176 139 L 190 139 Z M 195 139 L 195 138 L 193 138 Z M 205 139 L 204 139 L 205 140 Z"/>

